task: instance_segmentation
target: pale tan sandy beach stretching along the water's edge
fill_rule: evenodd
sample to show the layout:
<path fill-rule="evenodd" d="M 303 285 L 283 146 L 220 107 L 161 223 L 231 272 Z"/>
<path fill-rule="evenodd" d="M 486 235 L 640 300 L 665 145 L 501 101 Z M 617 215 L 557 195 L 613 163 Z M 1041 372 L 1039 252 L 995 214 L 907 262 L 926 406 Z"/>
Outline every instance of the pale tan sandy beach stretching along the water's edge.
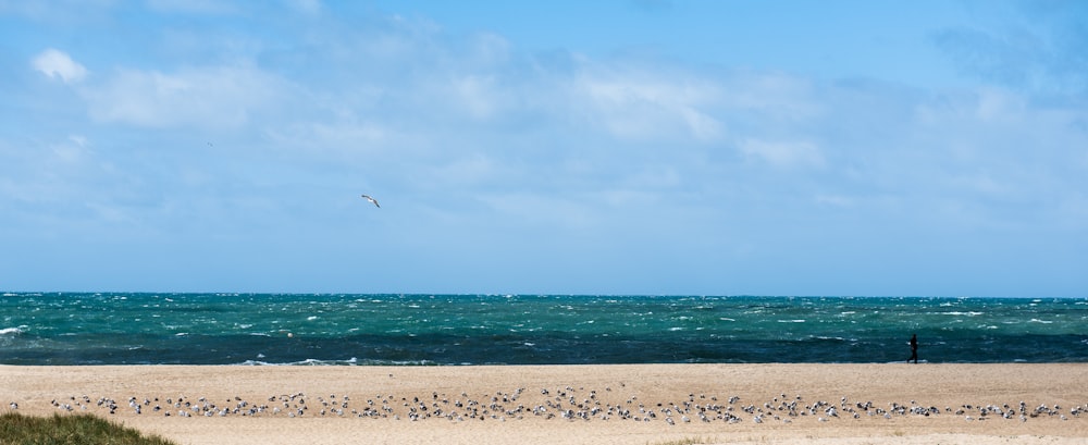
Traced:
<path fill-rule="evenodd" d="M 295 399 L 283 397 L 290 395 Z M 332 407 L 343 406 L 345 396 L 348 408 L 339 416 Z M 131 397 L 141 413 L 129 406 Z M 739 399 L 730 404 L 730 397 Z M 108 400 L 99 406 L 103 398 L 115 400 L 115 413 L 109 412 Z M 145 405 L 145 398 L 150 403 Z M 182 408 L 166 399 L 183 400 Z M 246 403 L 243 409 L 226 416 L 177 415 L 205 404 L 233 410 L 239 400 Z M 304 400 L 304 415 L 288 417 Z M 91 412 L 180 444 L 1088 443 L 1088 363 L 0 366 L 0 410 L 10 410 L 12 401 L 27 415 L 69 412 L 71 406 L 72 412 Z M 776 409 L 794 401 L 795 417 Z M 826 404 L 813 409 L 818 401 Z M 866 401 L 871 408 L 856 405 Z M 1028 411 L 1025 420 L 1021 401 Z M 877 410 L 892 404 L 905 406 L 905 412 L 889 419 Z M 409 406 L 421 405 L 428 410 L 417 408 L 420 420 L 410 420 Z M 981 416 L 980 408 L 991 405 L 1003 411 L 1009 405 L 1016 413 L 1012 419 L 989 411 Z M 1046 411 L 1033 416 L 1040 405 Z M 1060 413 L 1050 413 L 1055 405 Z M 248 415 L 261 406 L 268 407 Z M 837 416 L 828 413 L 829 407 Z M 939 412 L 912 412 L 929 407 Z M 564 419 L 568 409 L 574 419 Z M 1074 415 L 1079 410 L 1085 412 Z M 654 417 L 643 421 L 650 411 Z M 700 419 L 701 411 L 709 421 Z M 580 418 L 582 412 L 590 419 Z M 740 420 L 721 419 L 727 416 Z"/>

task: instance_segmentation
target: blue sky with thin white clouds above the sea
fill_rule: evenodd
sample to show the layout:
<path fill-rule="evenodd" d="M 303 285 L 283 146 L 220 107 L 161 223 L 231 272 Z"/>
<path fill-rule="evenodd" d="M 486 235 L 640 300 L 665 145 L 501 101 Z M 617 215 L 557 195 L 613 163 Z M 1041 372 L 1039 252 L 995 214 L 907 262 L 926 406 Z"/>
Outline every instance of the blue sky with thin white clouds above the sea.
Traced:
<path fill-rule="evenodd" d="M 1085 48 L 1075 0 L 0 0 L 0 291 L 1085 297 Z"/>

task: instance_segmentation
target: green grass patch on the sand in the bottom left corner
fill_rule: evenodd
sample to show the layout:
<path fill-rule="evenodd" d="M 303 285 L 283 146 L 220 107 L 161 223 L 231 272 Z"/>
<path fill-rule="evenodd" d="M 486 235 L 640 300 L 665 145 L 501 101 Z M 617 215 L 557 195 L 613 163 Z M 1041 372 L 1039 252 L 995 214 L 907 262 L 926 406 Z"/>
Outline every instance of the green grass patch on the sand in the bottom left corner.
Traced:
<path fill-rule="evenodd" d="M 0 445 L 175 445 L 91 415 L 0 415 Z"/>

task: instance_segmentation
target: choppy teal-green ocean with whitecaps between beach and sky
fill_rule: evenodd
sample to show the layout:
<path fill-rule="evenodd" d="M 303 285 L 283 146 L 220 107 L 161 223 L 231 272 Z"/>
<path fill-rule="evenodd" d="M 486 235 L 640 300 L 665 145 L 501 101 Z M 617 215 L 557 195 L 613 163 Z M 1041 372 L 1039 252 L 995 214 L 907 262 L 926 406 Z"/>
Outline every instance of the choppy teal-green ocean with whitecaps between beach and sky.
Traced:
<path fill-rule="evenodd" d="M 7 293 L 2 364 L 1088 362 L 1088 298 Z"/>

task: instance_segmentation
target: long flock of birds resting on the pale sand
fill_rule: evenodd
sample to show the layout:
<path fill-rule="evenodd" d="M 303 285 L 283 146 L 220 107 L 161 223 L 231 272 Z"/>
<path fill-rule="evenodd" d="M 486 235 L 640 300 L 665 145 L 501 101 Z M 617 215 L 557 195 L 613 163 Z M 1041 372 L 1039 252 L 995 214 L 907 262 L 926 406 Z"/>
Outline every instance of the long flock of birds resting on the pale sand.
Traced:
<path fill-rule="evenodd" d="M 689 394 L 676 401 L 643 403 L 636 396 L 618 397 L 610 387 L 598 393 L 595 390 L 574 390 L 571 386 L 541 388 L 530 392 L 517 388 L 511 392 L 495 392 L 481 397 L 470 397 L 467 393 L 457 396 L 432 392 L 426 395 L 397 397 L 393 394 L 376 394 L 372 397 L 354 398 L 348 395 L 307 396 L 302 393 L 273 395 L 252 403 L 240 396 L 223 400 L 207 397 L 110 397 L 92 398 L 71 396 L 52 400 L 52 406 L 62 411 L 107 411 L 111 415 L 159 415 L 166 417 L 354 417 L 392 420 L 421 421 L 445 419 L 449 421 L 522 420 L 536 418 L 567 421 L 626 420 L 635 422 L 665 422 L 670 425 L 689 422 L 755 422 L 791 423 L 796 419 L 815 419 L 828 422 L 861 418 L 902 418 L 959 416 L 967 421 L 1004 419 L 1027 421 L 1034 418 L 1059 418 L 1070 420 L 1088 415 L 1088 404 L 1063 408 L 1058 404 L 1029 406 L 1025 401 L 1004 405 L 961 405 L 938 408 L 924 406 L 912 400 L 910 404 L 890 403 L 878 407 L 873 401 L 851 401 L 842 397 L 838 403 L 826 400 L 806 401 L 800 395 L 780 394 L 770 400 L 750 404 L 738 396 L 718 398 L 705 394 Z M 618 398 L 617 398 L 618 397 Z M 611 403 L 604 399 L 614 400 Z M 11 409 L 18 409 L 11 403 Z"/>

